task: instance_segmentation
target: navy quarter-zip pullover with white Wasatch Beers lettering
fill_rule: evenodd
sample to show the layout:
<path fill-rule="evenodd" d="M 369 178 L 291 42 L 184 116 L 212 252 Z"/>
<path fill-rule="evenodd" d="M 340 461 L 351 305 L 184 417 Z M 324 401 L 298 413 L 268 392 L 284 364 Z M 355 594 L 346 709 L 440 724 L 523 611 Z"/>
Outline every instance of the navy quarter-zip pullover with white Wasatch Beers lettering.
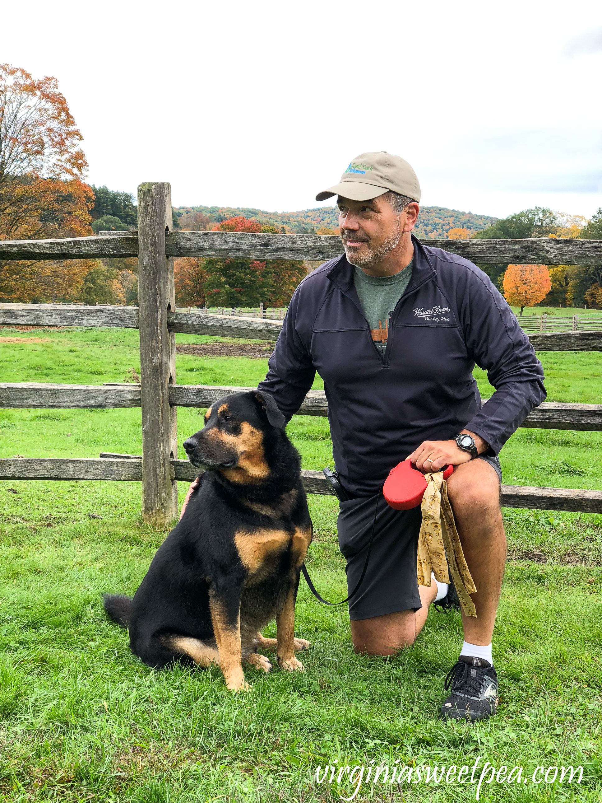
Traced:
<path fill-rule="evenodd" d="M 333 455 L 352 495 L 376 493 L 422 441 L 462 429 L 498 454 L 546 397 L 542 365 L 516 316 L 480 268 L 413 239 L 412 279 L 389 320 L 380 354 L 344 255 L 299 284 L 259 389 L 287 421 L 324 381 Z M 483 406 L 472 370 L 495 393 Z"/>

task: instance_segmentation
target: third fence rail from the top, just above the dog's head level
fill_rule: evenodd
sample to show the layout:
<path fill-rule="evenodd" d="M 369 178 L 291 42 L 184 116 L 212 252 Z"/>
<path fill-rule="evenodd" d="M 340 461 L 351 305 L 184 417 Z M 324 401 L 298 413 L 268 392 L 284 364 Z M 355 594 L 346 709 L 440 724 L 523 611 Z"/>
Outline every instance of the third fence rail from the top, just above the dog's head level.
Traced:
<path fill-rule="evenodd" d="M 170 385 L 169 404 L 177 407 L 210 407 L 218 399 L 254 388 L 230 385 Z M 140 407 L 140 385 L 51 385 L 47 382 L 0 383 L 0 408 L 6 409 L 112 409 Z M 323 390 L 310 390 L 299 415 L 327 416 Z M 602 431 L 602 404 L 543 402 L 521 426 L 542 430 Z"/>

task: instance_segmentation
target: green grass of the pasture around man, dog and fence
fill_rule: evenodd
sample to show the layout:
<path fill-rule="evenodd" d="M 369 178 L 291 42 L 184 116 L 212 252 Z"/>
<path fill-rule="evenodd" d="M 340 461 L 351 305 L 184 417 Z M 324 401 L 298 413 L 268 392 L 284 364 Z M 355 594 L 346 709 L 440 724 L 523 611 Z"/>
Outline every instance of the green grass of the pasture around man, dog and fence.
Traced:
<path fill-rule="evenodd" d="M 548 401 L 600 402 L 600 354 L 540 357 Z M 178 356 L 177 382 L 255 385 L 266 363 Z M 5 328 L 0 365 L 1 381 L 123 381 L 140 367 L 137 332 Z M 475 375 L 489 396 L 486 377 Z M 180 442 L 202 426 L 202 413 L 178 410 Z M 140 410 L 2 410 L 0 431 L 1 457 L 141 448 Z M 295 417 L 288 431 L 303 467 L 332 463 L 325 419 Z M 509 484 L 602 488 L 598 433 L 519 430 L 501 462 Z M 335 500 L 310 499 L 311 574 L 327 598 L 343 598 Z M 522 766 L 527 778 L 484 783 L 482 801 L 600 800 L 602 516 L 504 511 L 511 560 L 494 634 L 501 703 L 495 719 L 467 726 L 437 719 L 462 645 L 457 613 L 431 612 L 416 646 L 395 658 L 356 656 L 345 606 L 319 605 L 302 581 L 296 630 L 313 644 L 307 671 L 248 670 L 252 689 L 233 696 L 218 670 L 149 670 L 104 618 L 100 595 L 133 593 L 165 537 L 142 523 L 138 483 L 5 481 L 0 506 L 3 801 L 335 801 L 354 787 L 315 782 L 316 768 L 335 759 L 447 770 L 478 757 L 496 770 Z M 537 766 L 568 765 L 583 766 L 580 784 L 531 781 Z M 378 781 L 355 800 L 442 803 L 476 793 L 476 783 Z"/>

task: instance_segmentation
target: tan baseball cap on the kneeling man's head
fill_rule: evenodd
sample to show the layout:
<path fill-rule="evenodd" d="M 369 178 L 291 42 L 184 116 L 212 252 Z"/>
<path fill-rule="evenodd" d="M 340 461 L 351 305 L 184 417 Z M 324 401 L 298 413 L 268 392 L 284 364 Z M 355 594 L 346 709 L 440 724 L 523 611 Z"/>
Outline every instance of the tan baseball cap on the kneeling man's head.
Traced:
<path fill-rule="evenodd" d="M 342 195 L 352 201 L 368 201 L 389 190 L 420 201 L 417 175 L 405 159 L 386 151 L 360 153 L 349 162 L 340 182 L 318 193 L 315 200 L 325 201 L 333 195 Z"/>

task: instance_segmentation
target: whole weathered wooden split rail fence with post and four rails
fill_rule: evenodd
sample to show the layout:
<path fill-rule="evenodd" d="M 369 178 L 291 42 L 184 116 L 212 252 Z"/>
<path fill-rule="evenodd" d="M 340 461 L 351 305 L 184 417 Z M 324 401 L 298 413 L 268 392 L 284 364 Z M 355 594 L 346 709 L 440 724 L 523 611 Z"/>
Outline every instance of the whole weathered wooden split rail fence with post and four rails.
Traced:
<path fill-rule="evenodd" d="M 66 304 L 0 304 L 5 326 L 102 326 L 140 330 L 140 385 L 0 384 L 3 408 L 142 408 L 142 455 L 104 452 L 99 459 L 0 459 L 0 479 L 112 479 L 142 483 L 145 521 L 165 526 L 177 516 L 177 480 L 197 470 L 177 459 L 178 406 L 207 407 L 239 388 L 177 385 L 175 332 L 275 340 L 282 322 L 202 312 L 175 312 L 173 257 L 332 259 L 340 240 L 315 234 L 242 234 L 173 231 L 171 191 L 165 182 L 138 188 L 138 230 L 97 237 L 0 242 L 2 260 L 138 257 L 139 304 L 83 307 Z M 428 240 L 427 244 L 480 263 L 600 264 L 602 241 L 532 238 L 524 240 Z M 530 335 L 539 351 L 602 351 L 602 332 Z M 326 397 L 312 390 L 300 415 L 327 415 Z M 602 431 L 602 405 L 544 403 L 523 426 Z M 332 493 L 320 471 L 303 471 L 309 493 Z M 502 505 L 602 513 L 602 491 L 502 486 Z"/>

